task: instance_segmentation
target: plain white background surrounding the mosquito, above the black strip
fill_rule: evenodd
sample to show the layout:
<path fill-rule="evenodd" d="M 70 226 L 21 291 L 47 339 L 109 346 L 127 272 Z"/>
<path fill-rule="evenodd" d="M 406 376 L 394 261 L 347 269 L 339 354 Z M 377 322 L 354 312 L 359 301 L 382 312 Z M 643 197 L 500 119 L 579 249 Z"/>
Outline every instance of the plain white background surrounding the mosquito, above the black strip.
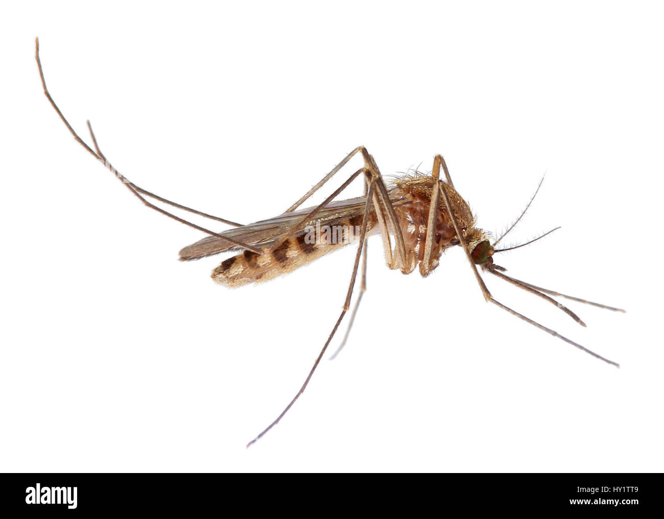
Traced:
<path fill-rule="evenodd" d="M 663 469 L 660 7 L 457 4 L 5 7 L 3 471 Z M 347 348 L 244 449 L 303 382 L 354 250 L 235 290 L 209 278 L 223 257 L 179 263 L 201 234 L 74 142 L 35 36 L 60 108 L 122 173 L 239 222 L 279 214 L 360 144 L 384 175 L 443 153 L 491 232 L 546 173 L 507 242 L 562 229 L 497 262 L 627 313 L 572 302 L 582 329 L 487 284 L 622 367 L 484 303 L 460 249 L 421 279 L 386 269 L 373 238 Z"/>

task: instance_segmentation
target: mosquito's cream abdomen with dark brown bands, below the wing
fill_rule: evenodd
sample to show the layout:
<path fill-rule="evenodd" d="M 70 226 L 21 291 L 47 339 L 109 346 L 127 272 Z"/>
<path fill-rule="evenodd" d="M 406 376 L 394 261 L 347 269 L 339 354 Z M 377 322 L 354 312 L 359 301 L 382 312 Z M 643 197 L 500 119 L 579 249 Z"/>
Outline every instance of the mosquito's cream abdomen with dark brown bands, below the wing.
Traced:
<path fill-rule="evenodd" d="M 212 271 L 212 279 L 228 287 L 270 281 L 355 242 L 359 237 L 359 226 L 356 224 L 361 220 L 361 217 L 353 218 L 333 226 L 342 230 L 338 240 L 327 239 L 323 231 L 323 234 L 314 232 L 313 235 L 293 236 L 276 248 L 262 248 L 261 254 L 245 250 L 222 261 Z M 349 232 L 349 229 L 352 230 Z"/>

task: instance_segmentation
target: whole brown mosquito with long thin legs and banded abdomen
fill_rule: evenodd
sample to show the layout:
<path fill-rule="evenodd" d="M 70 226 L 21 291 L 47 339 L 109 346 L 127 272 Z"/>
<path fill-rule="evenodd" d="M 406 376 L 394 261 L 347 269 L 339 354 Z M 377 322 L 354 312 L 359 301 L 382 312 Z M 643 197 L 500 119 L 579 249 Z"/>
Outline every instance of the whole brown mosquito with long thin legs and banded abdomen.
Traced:
<path fill-rule="evenodd" d="M 346 335 L 341 342 L 341 346 L 333 356 L 339 353 L 348 337 L 348 333 L 353 325 L 357 309 L 362 300 L 363 293 L 367 290 L 367 239 L 375 234 L 380 235 L 382 239 L 382 249 L 384 253 L 385 263 L 388 268 L 393 270 L 400 270 L 404 274 L 409 274 L 418 268 L 422 277 L 427 277 L 440 263 L 442 254 L 454 246 L 460 246 L 468 260 L 468 264 L 473 271 L 475 280 L 479 285 L 484 298 L 489 303 L 493 303 L 497 307 L 511 313 L 515 317 L 539 328 L 540 330 L 551 334 L 568 344 L 572 344 L 576 348 L 600 359 L 608 364 L 612 364 L 617 368 L 620 365 L 613 360 L 609 360 L 600 354 L 585 348 L 581 344 L 562 336 L 561 334 L 547 328 L 533 319 L 511 309 L 500 303 L 491 295 L 489 289 L 485 285 L 482 277 L 479 275 L 477 267 L 480 267 L 483 272 L 488 272 L 495 275 L 503 281 L 507 281 L 512 285 L 519 287 L 537 297 L 552 303 L 560 310 L 564 311 L 574 321 L 581 326 L 586 324 L 568 309 L 551 296 L 564 297 L 577 301 L 578 303 L 585 303 L 607 310 L 625 312 L 623 309 L 602 305 L 573 297 L 570 295 L 558 293 L 549 289 L 521 281 L 515 277 L 505 274 L 506 269 L 494 263 L 493 255 L 507 250 L 513 250 L 518 247 L 531 244 L 540 238 L 550 234 L 556 229 L 552 229 L 534 240 L 530 240 L 525 244 L 510 248 L 496 248 L 497 244 L 505 238 L 505 236 L 515 228 L 516 224 L 521 220 L 525 212 L 530 207 L 535 199 L 539 188 L 542 185 L 540 181 L 535 194 L 531 197 L 530 202 L 526 208 L 521 212 L 521 215 L 497 240 L 491 243 L 490 236 L 477 227 L 476 218 L 473 216 L 467 202 L 454 188 L 450 171 L 443 159 L 442 155 L 434 157 L 434 165 L 432 167 L 431 175 L 415 172 L 412 175 L 404 175 L 394 179 L 390 183 L 386 183 L 376 161 L 369 154 L 364 146 L 355 148 L 319 183 L 307 191 L 299 200 L 292 204 L 283 214 L 270 218 L 269 220 L 262 220 L 253 224 L 242 225 L 225 218 L 212 216 L 205 212 L 201 212 L 182 204 L 167 200 L 157 194 L 149 192 L 133 182 L 129 181 L 126 177 L 121 175 L 118 170 L 106 159 L 96 141 L 96 137 L 92 131 L 90 121 L 88 121 L 88 131 L 94 149 L 86 144 L 83 139 L 78 136 L 72 126 L 68 123 L 53 98 L 50 96 L 46 88 L 46 81 L 44 80 L 44 72 L 42 70 L 41 60 L 39 58 L 39 38 L 35 39 L 35 59 L 39 68 L 39 75 L 41 77 L 44 94 L 54 110 L 62 119 L 64 125 L 74 136 L 74 139 L 82 145 L 95 159 L 102 162 L 104 166 L 109 169 L 124 185 L 131 191 L 131 193 L 139 198 L 143 204 L 151 209 L 154 209 L 169 218 L 173 218 L 178 222 L 191 226 L 197 230 L 205 232 L 208 236 L 199 240 L 195 244 L 191 244 L 183 248 L 179 255 L 181 261 L 197 260 L 200 258 L 207 258 L 215 254 L 223 252 L 237 252 L 234 256 L 222 261 L 213 271 L 212 279 L 217 283 L 226 285 L 228 287 L 239 287 L 248 285 L 250 283 L 262 283 L 278 277 L 279 275 L 289 273 L 311 261 L 317 260 L 326 254 L 334 252 L 339 248 L 349 244 L 357 244 L 357 253 L 355 254 L 355 261 L 353 263 L 353 270 L 351 273 L 351 281 L 349 283 L 348 291 L 341 314 L 327 337 L 323 348 L 318 354 L 307 378 L 302 384 L 301 388 L 295 394 L 288 406 L 284 408 L 282 413 L 268 425 L 258 436 L 247 444 L 250 447 L 261 437 L 263 437 L 272 427 L 286 415 L 289 409 L 295 404 L 295 401 L 304 392 L 311 376 L 319 365 L 327 347 L 329 346 L 332 338 L 337 333 L 341 321 L 346 313 L 351 308 L 351 297 L 353 289 L 355 288 L 355 281 L 361 267 L 361 283 L 360 291 L 351 313 L 351 319 Z M 355 173 L 350 175 L 348 179 L 341 184 L 337 189 L 332 192 L 321 204 L 300 209 L 300 206 L 306 202 L 311 195 L 317 192 L 327 181 L 332 179 L 339 171 L 350 161 L 355 155 L 362 157 L 364 165 Z M 443 171 L 445 179 L 440 178 L 440 171 Z M 364 180 L 364 195 L 357 198 L 350 198 L 348 200 L 336 200 L 336 198 L 343 192 L 355 179 L 361 177 Z M 147 198 L 159 200 L 164 204 L 168 204 L 179 208 L 181 210 L 203 216 L 216 222 L 222 222 L 232 226 L 231 229 L 223 232 L 214 232 L 193 222 L 189 222 L 163 208 L 156 206 L 149 202 Z M 312 230 L 313 232 L 312 236 Z M 328 232 L 332 230 L 332 232 Z M 336 234 L 335 232 L 336 231 Z M 394 247 L 392 247 L 392 238 L 394 239 Z"/>

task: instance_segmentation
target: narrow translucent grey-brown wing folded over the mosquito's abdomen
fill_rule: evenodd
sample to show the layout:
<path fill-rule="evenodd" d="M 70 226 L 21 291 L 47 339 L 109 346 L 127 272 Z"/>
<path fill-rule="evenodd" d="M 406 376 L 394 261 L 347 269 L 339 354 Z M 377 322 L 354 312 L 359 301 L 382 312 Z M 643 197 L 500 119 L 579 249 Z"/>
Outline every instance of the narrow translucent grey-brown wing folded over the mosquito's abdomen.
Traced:
<path fill-rule="evenodd" d="M 327 206 L 319 210 L 311 220 L 305 222 L 300 228 L 293 229 L 293 234 L 297 235 L 305 232 L 307 226 L 315 226 L 316 222 L 320 222 L 321 225 L 333 225 L 337 220 L 364 214 L 366 202 L 367 198 L 364 196 L 330 202 Z M 274 243 L 275 238 L 280 236 L 288 227 L 299 223 L 313 209 L 313 207 L 310 207 L 294 212 L 285 212 L 275 218 L 228 229 L 220 234 L 247 245 L 267 247 Z M 199 240 L 195 244 L 183 248 L 180 251 L 180 260 L 198 260 L 199 258 L 205 258 L 230 250 L 241 250 L 241 248 L 217 236 L 207 236 L 203 240 Z"/>

